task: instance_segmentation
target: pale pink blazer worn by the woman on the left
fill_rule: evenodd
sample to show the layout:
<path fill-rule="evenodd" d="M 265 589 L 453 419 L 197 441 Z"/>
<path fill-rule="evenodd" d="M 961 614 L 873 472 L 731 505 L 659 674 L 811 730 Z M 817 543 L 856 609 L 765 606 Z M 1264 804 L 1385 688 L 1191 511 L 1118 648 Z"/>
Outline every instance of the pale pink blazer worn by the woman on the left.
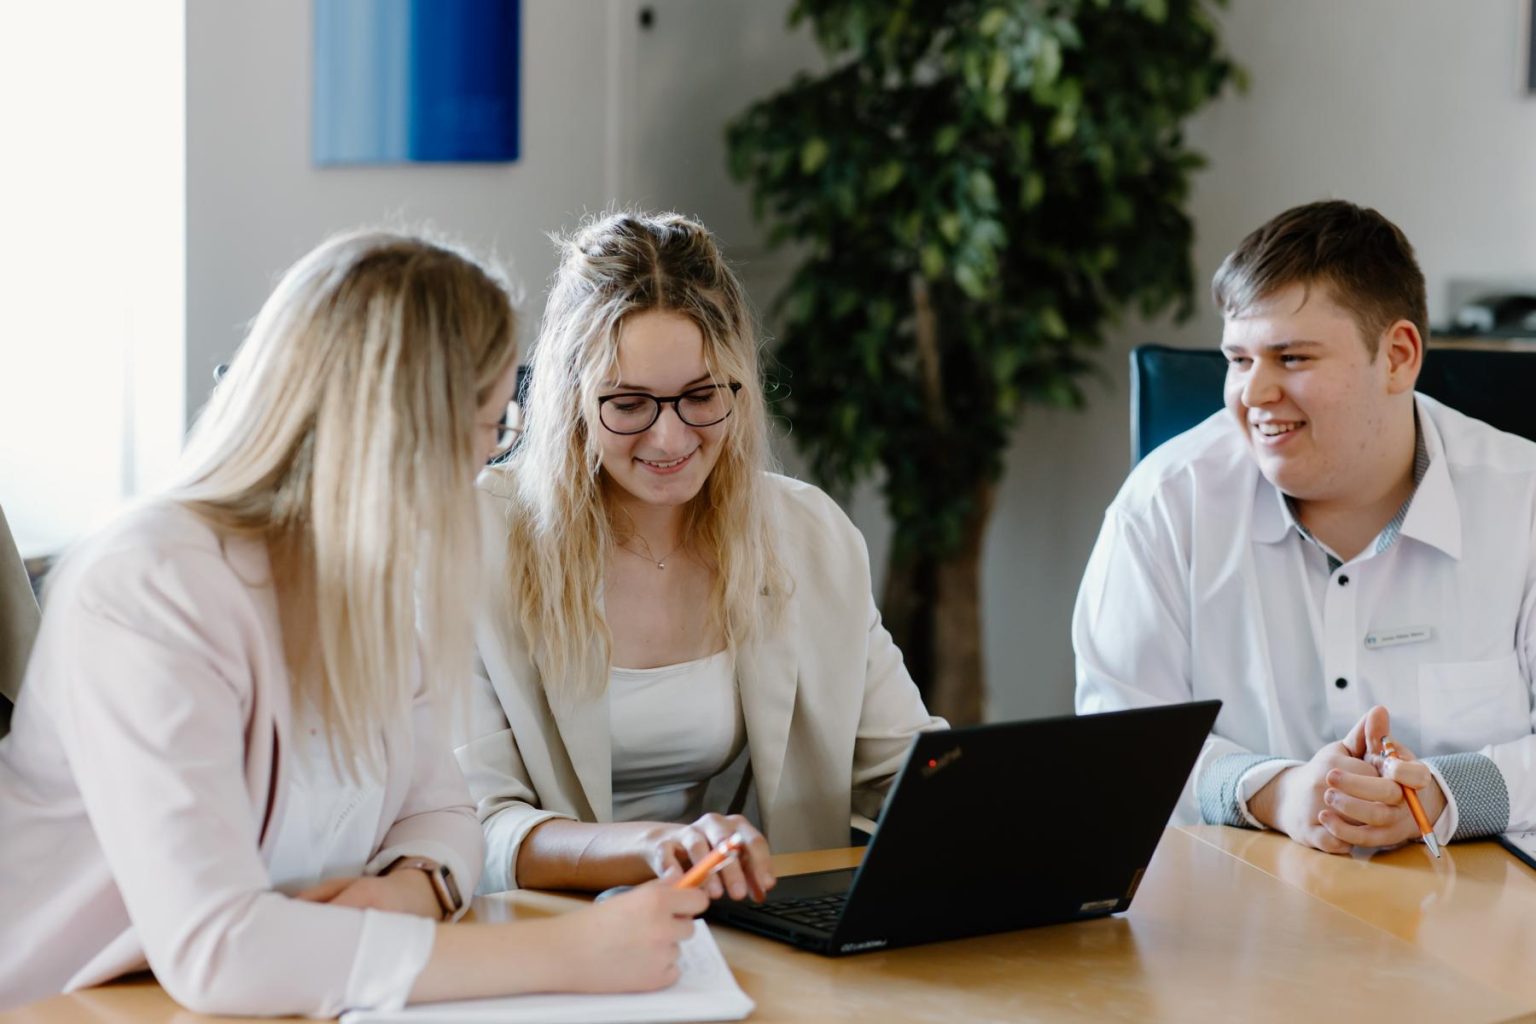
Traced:
<path fill-rule="evenodd" d="M 398 989 L 429 923 L 272 890 L 295 743 L 264 545 L 158 504 L 54 573 L 0 740 L 0 1007 L 144 966 L 212 1013 L 330 1016 Z M 472 889 L 481 829 L 430 703 L 382 738 L 370 869 L 421 854 Z"/>

